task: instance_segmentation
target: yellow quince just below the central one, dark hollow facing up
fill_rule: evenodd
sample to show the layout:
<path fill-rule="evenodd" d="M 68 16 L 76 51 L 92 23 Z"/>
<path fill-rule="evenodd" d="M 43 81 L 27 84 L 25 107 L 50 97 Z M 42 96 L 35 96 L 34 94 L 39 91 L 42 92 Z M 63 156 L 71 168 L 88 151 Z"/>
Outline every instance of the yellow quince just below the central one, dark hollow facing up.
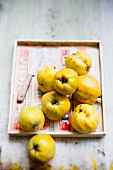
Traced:
<path fill-rule="evenodd" d="M 42 96 L 42 111 L 50 120 L 60 120 L 70 110 L 70 101 L 56 91 L 51 91 Z"/>

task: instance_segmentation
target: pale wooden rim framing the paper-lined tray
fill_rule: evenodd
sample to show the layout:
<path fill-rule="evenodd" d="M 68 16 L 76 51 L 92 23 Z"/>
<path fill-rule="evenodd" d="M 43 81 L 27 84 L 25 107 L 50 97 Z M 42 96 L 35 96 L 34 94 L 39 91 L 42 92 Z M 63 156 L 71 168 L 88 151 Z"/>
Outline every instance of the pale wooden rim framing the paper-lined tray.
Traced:
<path fill-rule="evenodd" d="M 13 124 L 13 105 L 14 105 L 14 98 L 15 98 L 15 84 L 16 81 L 18 81 L 15 77 L 15 70 L 16 70 L 16 62 L 17 62 L 17 53 L 18 53 L 18 48 L 24 48 L 27 47 L 28 49 L 31 48 L 37 48 L 37 47 L 47 47 L 47 48 L 63 48 L 65 47 L 79 47 L 79 48 L 87 48 L 91 52 L 91 49 L 96 49 L 96 54 L 98 52 L 98 66 L 96 63 L 94 64 L 95 71 L 99 72 L 99 83 L 101 86 L 102 90 L 102 98 L 98 102 L 97 106 L 101 106 L 101 121 L 99 124 L 99 130 L 96 132 L 88 133 L 88 134 L 79 134 L 77 132 L 70 132 L 66 130 L 60 130 L 60 131 L 45 131 L 45 130 L 40 130 L 37 132 L 23 132 L 21 130 L 14 130 L 12 128 Z M 93 67 L 93 66 L 92 66 Z M 94 74 L 94 72 L 93 72 Z M 98 73 L 97 73 L 98 74 Z M 95 74 L 94 74 L 95 76 Z M 97 78 L 97 77 L 96 77 Z M 98 40 L 95 41 L 37 41 L 37 40 L 16 40 L 15 41 L 15 46 L 14 46 L 14 56 L 13 56 L 13 68 L 12 68 L 12 80 L 11 80 L 11 98 L 10 98 L 10 113 L 9 113 L 9 124 L 8 124 L 8 134 L 10 135 L 17 135 L 17 136 L 28 136 L 28 135 L 34 135 L 37 133 L 49 133 L 52 136 L 56 137 L 103 137 L 105 135 L 105 127 L 104 127 L 104 95 L 103 95 L 103 70 L 102 70 L 102 50 L 101 50 L 101 42 Z M 27 97 L 26 97 L 27 98 Z M 96 107 L 97 107 L 96 106 Z"/>

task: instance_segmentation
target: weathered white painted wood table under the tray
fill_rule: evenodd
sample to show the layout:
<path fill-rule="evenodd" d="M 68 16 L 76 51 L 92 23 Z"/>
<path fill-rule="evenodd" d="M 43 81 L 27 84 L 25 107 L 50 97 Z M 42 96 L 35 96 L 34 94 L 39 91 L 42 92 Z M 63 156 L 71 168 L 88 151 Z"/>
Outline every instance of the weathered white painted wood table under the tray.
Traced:
<path fill-rule="evenodd" d="M 2 162 L 29 167 L 30 137 L 7 133 L 15 39 L 101 40 L 104 70 L 105 130 L 103 138 L 55 138 L 58 169 L 77 165 L 82 170 L 109 170 L 113 163 L 113 1 L 0 0 L 0 146 Z M 111 166 L 111 168 L 110 168 Z"/>

